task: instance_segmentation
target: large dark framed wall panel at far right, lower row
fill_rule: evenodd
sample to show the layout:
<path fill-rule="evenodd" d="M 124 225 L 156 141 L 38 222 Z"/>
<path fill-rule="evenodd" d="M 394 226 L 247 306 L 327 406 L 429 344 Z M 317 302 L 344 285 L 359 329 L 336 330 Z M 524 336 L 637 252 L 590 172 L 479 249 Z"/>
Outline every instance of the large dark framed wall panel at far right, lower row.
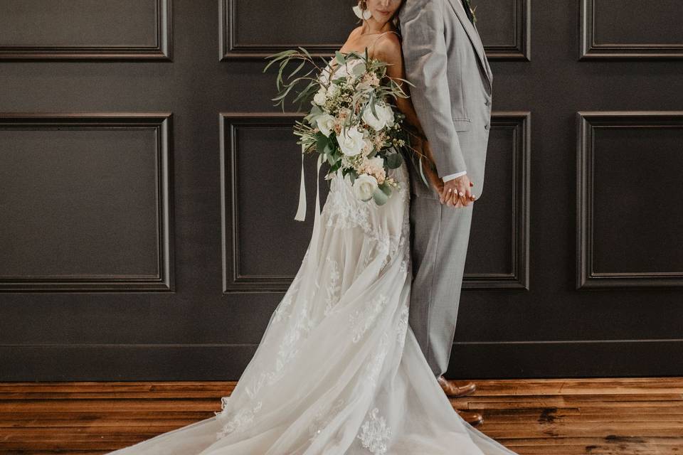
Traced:
<path fill-rule="evenodd" d="M 683 286 L 683 112 L 579 112 L 577 287 Z"/>

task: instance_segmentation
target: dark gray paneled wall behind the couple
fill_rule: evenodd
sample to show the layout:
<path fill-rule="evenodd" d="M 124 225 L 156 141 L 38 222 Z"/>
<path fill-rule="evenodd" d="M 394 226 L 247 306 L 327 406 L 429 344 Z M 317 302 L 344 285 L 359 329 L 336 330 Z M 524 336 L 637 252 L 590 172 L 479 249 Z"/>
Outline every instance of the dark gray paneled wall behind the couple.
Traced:
<path fill-rule="evenodd" d="M 0 0 L 0 380 L 239 378 L 314 207 L 263 58 L 329 57 L 351 4 Z M 494 114 L 450 376 L 682 374 L 679 2 L 474 4 Z"/>

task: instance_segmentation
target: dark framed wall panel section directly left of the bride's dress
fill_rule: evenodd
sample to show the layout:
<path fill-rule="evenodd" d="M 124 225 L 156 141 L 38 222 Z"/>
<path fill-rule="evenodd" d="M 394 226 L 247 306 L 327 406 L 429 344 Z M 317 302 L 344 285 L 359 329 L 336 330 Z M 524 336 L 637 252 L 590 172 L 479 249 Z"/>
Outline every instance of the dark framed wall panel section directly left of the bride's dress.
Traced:
<path fill-rule="evenodd" d="M 225 292 L 285 291 L 299 269 L 312 233 L 316 183 L 316 157 L 307 155 L 308 215 L 305 223 L 294 220 L 301 146 L 292 127 L 302 117 L 221 113 Z"/>

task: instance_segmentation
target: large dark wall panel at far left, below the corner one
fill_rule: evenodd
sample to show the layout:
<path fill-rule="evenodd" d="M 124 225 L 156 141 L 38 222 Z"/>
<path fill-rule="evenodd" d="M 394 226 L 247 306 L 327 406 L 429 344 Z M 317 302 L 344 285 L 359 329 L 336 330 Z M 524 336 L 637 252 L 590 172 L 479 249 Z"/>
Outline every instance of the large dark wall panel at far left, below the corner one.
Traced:
<path fill-rule="evenodd" d="M 0 219 L 9 242 L 0 252 L 1 267 L 10 272 L 0 272 L 0 291 L 174 291 L 171 117 L 170 112 L 0 113 L 0 163 L 4 155 L 14 161 L 5 168 L 26 169 L 0 183 L 8 198 L 1 201 L 4 210 L 12 209 Z M 125 158 L 112 155 L 119 147 L 115 139 L 122 141 Z M 90 149 L 107 143 L 106 149 Z M 151 148 L 138 151 L 141 144 Z M 16 158 L 38 147 L 25 160 Z M 121 164 L 110 164 L 116 161 Z M 128 176 L 134 168 L 142 170 Z M 136 186 L 122 188 L 131 183 Z M 28 214 L 19 213 L 11 198 L 33 204 L 26 207 Z M 152 218 L 144 219 L 147 213 Z M 60 232 L 65 229 L 70 233 Z M 43 240 L 53 242 L 31 246 Z M 36 256 L 38 251 L 45 256 Z M 15 269 L 24 272 L 11 273 Z M 55 269 L 65 273 L 39 273 Z"/>

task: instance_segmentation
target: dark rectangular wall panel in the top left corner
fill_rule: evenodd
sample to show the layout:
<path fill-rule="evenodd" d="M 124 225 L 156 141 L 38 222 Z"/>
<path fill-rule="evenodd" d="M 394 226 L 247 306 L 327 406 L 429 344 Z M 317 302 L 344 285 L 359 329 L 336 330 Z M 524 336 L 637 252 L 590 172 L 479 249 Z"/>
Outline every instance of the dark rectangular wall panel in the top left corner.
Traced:
<path fill-rule="evenodd" d="M 0 0 L 0 60 L 171 59 L 171 0 Z"/>

